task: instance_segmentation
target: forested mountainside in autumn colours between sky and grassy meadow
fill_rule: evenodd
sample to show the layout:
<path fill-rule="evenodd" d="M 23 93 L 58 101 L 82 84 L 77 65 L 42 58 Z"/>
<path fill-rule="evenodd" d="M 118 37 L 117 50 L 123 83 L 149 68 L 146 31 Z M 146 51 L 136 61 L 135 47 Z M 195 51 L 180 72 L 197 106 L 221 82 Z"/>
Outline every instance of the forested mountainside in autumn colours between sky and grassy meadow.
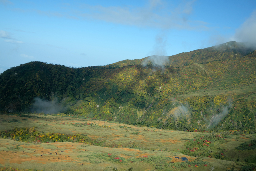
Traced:
<path fill-rule="evenodd" d="M 0 75 L 0 110 L 60 112 L 182 131 L 253 133 L 253 50 L 228 42 L 170 56 L 162 66 L 149 57 L 82 68 L 30 62 Z"/>

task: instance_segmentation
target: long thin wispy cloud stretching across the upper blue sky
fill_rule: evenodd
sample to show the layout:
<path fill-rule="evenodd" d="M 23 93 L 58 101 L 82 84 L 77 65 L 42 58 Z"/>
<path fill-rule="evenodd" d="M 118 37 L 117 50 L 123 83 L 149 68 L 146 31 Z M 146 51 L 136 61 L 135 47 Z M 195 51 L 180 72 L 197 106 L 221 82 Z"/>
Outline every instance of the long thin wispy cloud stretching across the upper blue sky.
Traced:
<path fill-rule="evenodd" d="M 121 7 L 81 4 L 72 6 L 65 4 L 65 12 L 44 11 L 39 9 L 23 10 L 16 8 L 19 12 L 36 12 L 49 17 L 65 17 L 69 19 L 98 20 L 122 25 L 136 27 L 149 27 L 160 29 L 187 29 L 206 30 L 208 23 L 203 21 L 190 20 L 193 13 L 194 1 L 185 1 L 173 7 L 161 0 L 150 0 L 143 7 Z"/>

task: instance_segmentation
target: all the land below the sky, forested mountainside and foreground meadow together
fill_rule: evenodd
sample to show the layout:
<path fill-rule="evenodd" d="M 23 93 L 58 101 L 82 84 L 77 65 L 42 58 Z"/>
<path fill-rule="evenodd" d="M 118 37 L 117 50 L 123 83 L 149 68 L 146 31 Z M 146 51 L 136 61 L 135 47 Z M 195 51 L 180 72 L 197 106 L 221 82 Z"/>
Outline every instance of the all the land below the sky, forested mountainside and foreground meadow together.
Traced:
<path fill-rule="evenodd" d="M 7 69 L 0 170 L 254 170 L 255 49 Z"/>

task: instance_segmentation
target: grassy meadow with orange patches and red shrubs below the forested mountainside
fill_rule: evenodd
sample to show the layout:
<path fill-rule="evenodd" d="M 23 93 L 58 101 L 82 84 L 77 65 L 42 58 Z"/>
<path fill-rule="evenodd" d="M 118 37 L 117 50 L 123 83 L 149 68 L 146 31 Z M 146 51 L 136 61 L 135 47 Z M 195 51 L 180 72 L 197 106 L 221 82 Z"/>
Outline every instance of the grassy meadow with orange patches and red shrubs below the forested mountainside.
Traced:
<path fill-rule="evenodd" d="M 182 132 L 43 114 L 1 114 L 0 131 L 2 170 L 249 170 L 256 166 L 256 135 L 239 131 Z"/>

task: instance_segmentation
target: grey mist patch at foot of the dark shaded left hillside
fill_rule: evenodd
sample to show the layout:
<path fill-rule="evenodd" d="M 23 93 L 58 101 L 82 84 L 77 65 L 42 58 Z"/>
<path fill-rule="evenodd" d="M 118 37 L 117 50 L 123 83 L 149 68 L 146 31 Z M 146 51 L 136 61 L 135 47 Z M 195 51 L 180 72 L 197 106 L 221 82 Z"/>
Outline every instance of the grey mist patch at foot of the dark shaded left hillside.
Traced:
<path fill-rule="evenodd" d="M 46 101 L 42 100 L 39 97 L 36 97 L 35 103 L 33 104 L 31 108 L 31 112 L 36 112 L 36 113 L 58 113 L 58 112 L 63 112 L 65 108 L 62 107 L 60 103 L 57 102 L 57 100 L 51 100 L 51 101 Z"/>

